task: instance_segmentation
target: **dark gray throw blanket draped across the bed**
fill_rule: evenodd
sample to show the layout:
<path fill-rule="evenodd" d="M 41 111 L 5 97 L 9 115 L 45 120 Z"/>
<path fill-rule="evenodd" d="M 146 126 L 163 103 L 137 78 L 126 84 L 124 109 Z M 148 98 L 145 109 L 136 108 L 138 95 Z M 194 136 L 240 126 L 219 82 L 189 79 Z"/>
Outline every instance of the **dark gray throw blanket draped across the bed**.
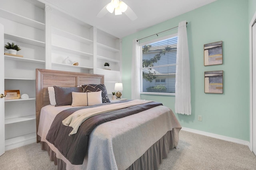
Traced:
<path fill-rule="evenodd" d="M 101 123 L 107 121 L 112 121 L 115 119 L 126 117 L 128 115 L 139 113 L 141 111 L 150 109 L 155 106 L 160 106 L 162 104 L 158 102 L 149 102 L 142 105 L 130 106 L 124 109 L 95 115 L 84 121 L 79 127 L 76 134 L 69 136 L 69 133 L 73 130 L 73 128 L 63 125 L 62 120 L 66 119 L 66 117 L 79 109 L 98 107 L 102 105 L 104 104 L 66 109 L 58 113 L 58 115 L 56 115 L 54 121 L 52 122 L 50 130 L 48 131 L 48 134 L 46 136 L 46 140 L 52 143 L 62 153 L 62 155 L 70 161 L 71 164 L 78 165 L 83 163 L 84 156 L 87 151 L 86 149 L 88 145 L 88 137 L 91 131 L 97 125 L 100 125 Z"/>

